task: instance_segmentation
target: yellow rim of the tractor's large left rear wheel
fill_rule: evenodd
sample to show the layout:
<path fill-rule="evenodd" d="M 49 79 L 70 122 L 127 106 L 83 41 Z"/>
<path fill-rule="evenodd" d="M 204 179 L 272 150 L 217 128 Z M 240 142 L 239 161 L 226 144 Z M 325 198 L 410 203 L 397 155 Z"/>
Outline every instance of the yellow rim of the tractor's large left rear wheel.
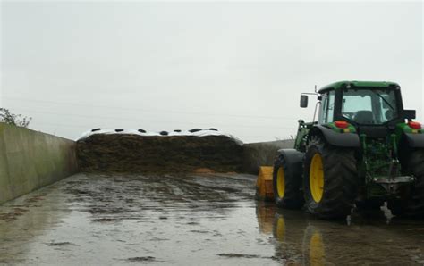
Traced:
<path fill-rule="evenodd" d="M 324 170 L 320 154 L 315 154 L 310 162 L 310 195 L 319 203 L 324 191 Z"/>

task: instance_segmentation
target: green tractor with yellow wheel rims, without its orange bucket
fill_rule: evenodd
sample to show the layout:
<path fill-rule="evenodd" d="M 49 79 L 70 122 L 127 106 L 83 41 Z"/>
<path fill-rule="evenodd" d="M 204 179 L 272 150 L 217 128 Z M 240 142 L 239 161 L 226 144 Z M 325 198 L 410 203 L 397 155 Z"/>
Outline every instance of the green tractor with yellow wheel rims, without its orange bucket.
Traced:
<path fill-rule="evenodd" d="M 318 97 L 314 119 L 299 121 L 294 149 L 274 163 L 277 206 L 330 219 L 386 202 L 394 215 L 423 217 L 424 130 L 399 85 L 336 82 L 302 94 L 302 108 L 308 95 Z"/>

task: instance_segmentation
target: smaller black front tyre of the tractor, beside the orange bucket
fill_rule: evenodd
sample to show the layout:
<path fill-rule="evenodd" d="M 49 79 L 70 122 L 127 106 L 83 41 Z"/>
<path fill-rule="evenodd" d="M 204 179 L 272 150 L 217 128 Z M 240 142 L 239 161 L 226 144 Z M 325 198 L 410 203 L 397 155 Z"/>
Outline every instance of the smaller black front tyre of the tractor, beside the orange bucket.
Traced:
<path fill-rule="evenodd" d="M 290 158 L 289 158 L 290 156 Z M 274 162 L 273 189 L 276 205 L 286 209 L 300 209 L 303 204 L 301 193 L 301 161 L 303 154 L 294 150 L 288 150 L 285 154 L 279 154 Z M 278 172 L 284 174 L 284 195 L 278 192 Z"/>

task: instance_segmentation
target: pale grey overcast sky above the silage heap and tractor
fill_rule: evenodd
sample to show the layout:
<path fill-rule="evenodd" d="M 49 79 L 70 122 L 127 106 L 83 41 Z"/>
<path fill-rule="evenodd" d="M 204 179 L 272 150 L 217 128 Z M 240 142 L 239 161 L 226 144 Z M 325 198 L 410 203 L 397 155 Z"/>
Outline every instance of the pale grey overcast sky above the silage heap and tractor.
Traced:
<path fill-rule="evenodd" d="M 1 12 L 0 106 L 31 129 L 214 127 L 295 136 L 301 92 L 391 80 L 423 121 L 420 2 L 16 2 Z M 312 99 L 311 99 L 312 100 Z M 310 101 L 313 103 L 314 101 Z"/>

